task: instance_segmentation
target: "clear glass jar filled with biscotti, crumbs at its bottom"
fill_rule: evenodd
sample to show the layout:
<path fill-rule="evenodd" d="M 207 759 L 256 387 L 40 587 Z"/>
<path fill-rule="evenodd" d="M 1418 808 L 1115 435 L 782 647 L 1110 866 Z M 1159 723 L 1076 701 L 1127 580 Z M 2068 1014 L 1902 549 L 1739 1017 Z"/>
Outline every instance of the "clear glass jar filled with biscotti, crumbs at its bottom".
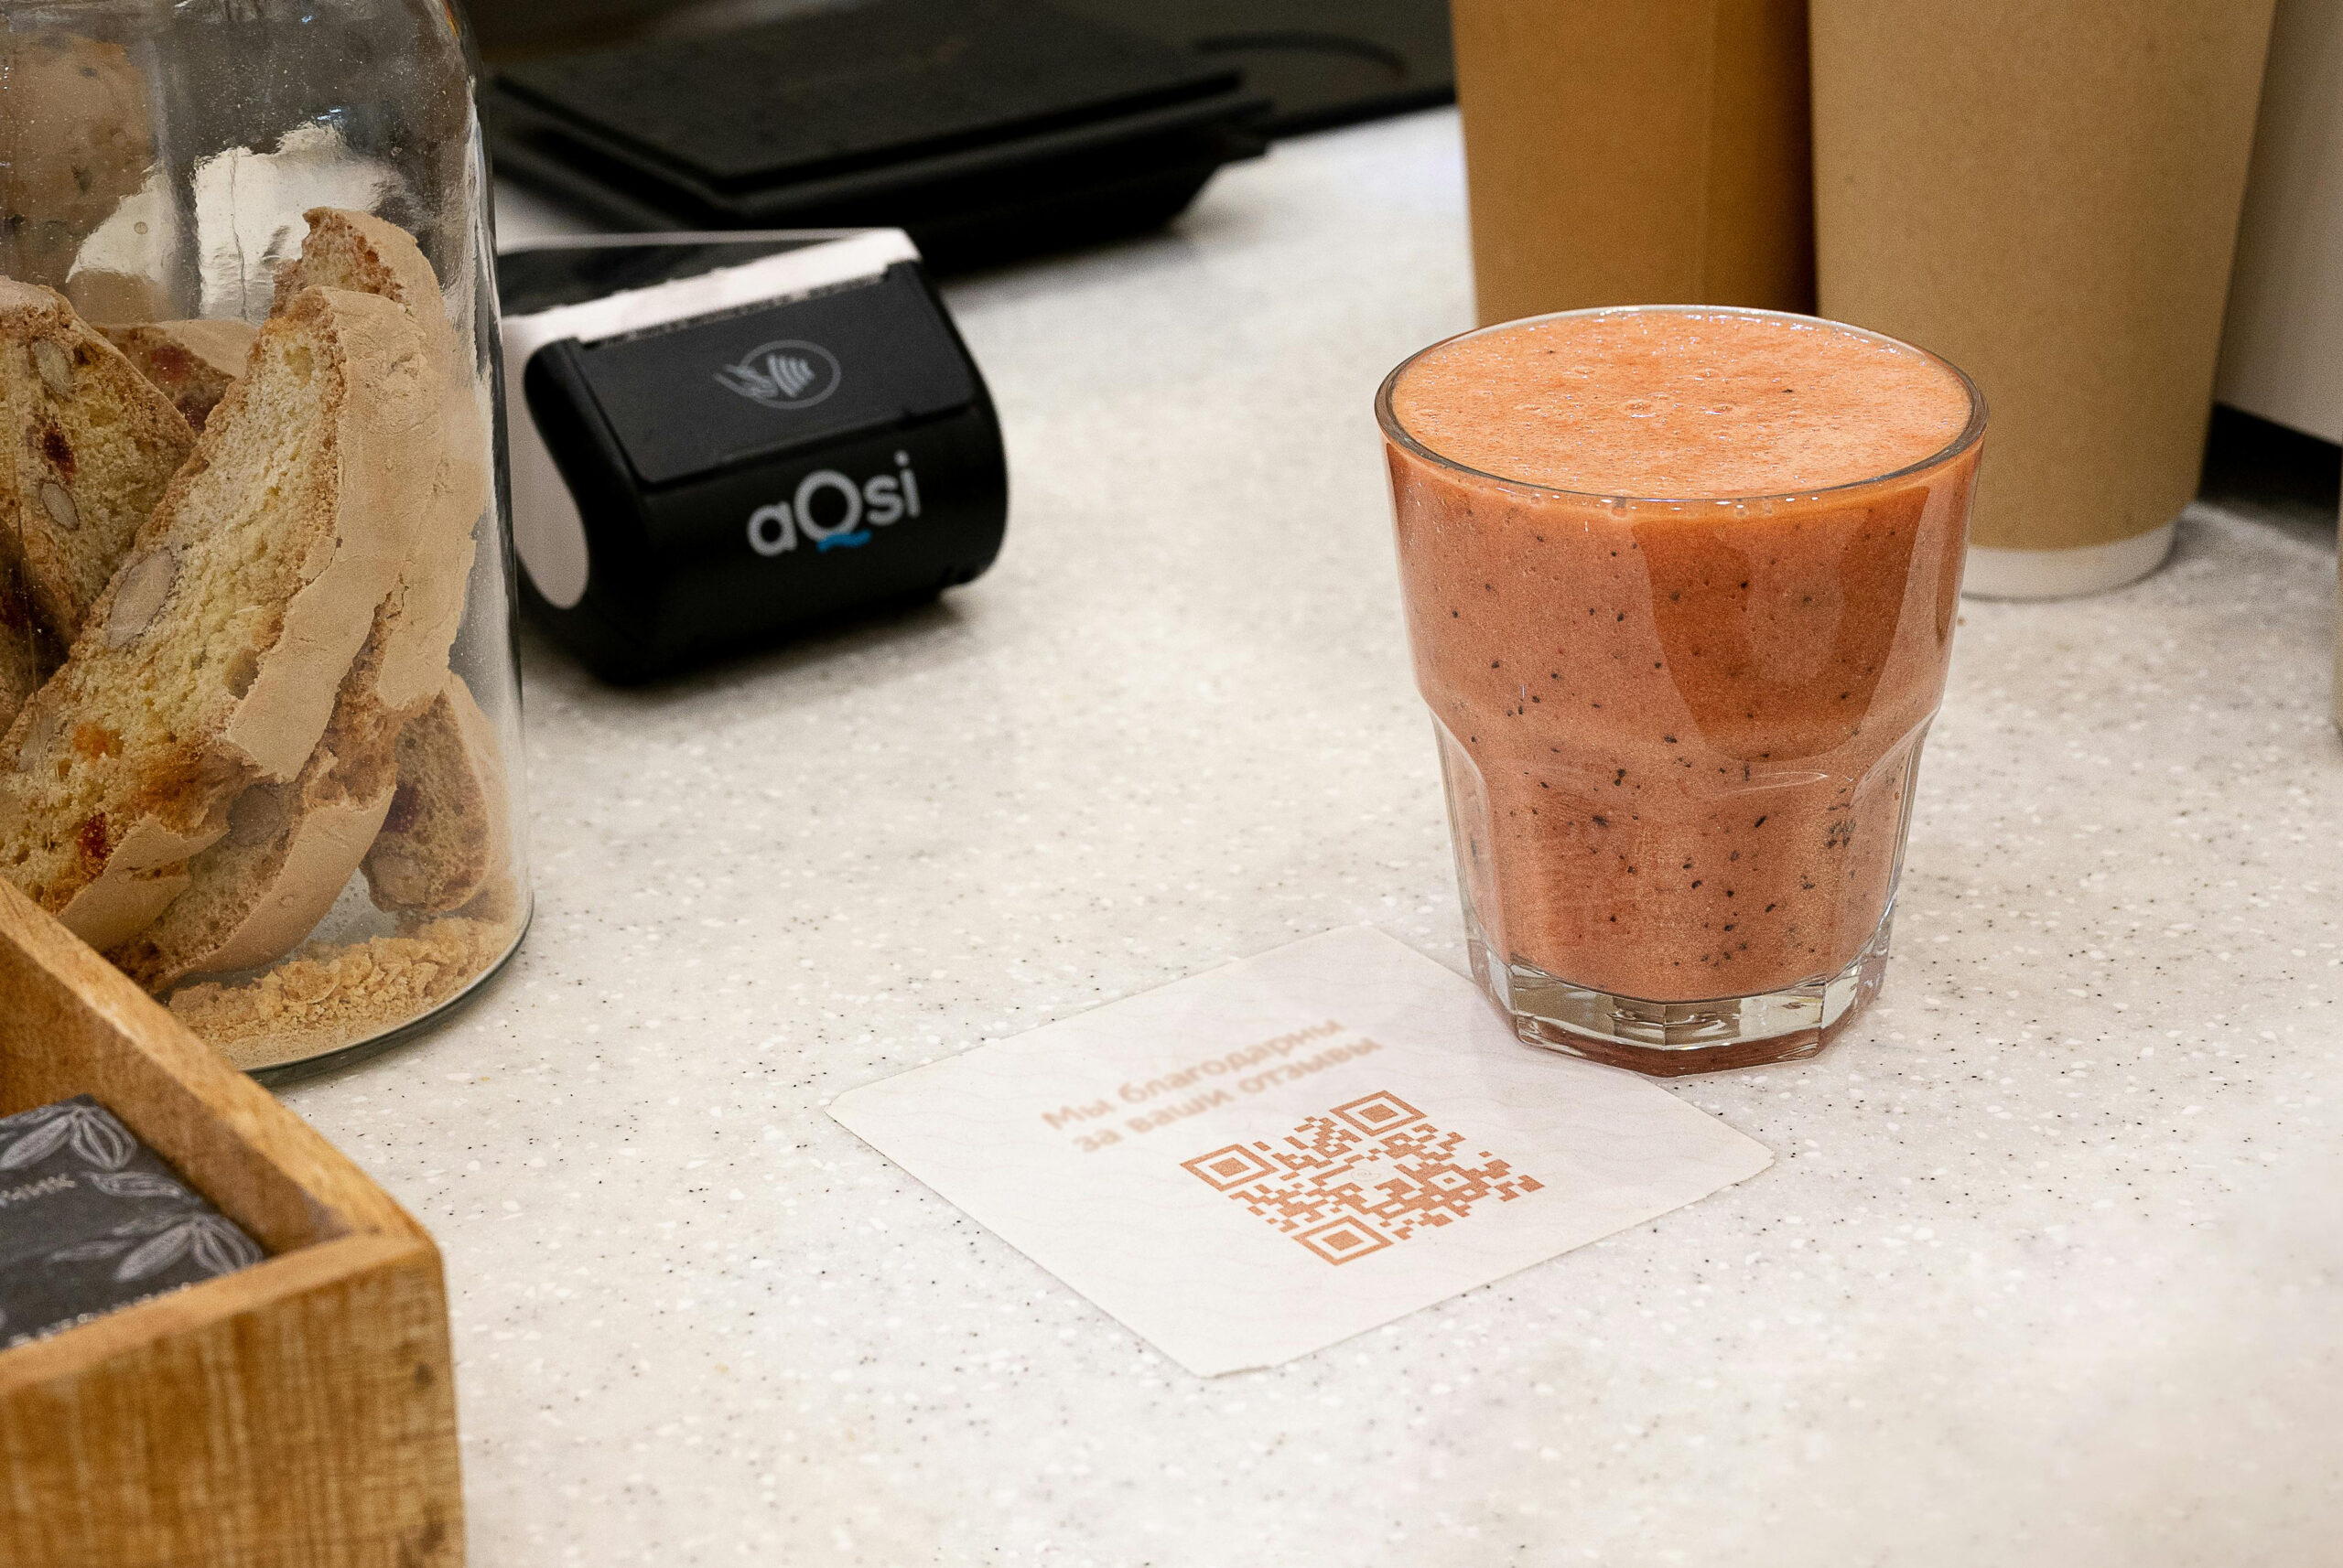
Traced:
<path fill-rule="evenodd" d="M 0 875 L 239 1065 L 351 1060 L 530 915 L 462 23 L 0 16 Z"/>

